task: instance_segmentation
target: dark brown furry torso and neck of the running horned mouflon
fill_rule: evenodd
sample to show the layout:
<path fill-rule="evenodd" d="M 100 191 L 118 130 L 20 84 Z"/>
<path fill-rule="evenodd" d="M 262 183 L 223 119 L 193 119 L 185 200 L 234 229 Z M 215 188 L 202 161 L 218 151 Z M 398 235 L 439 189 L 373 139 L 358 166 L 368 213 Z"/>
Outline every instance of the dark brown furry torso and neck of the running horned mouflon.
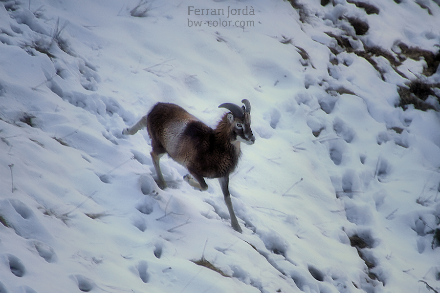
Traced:
<path fill-rule="evenodd" d="M 176 120 L 185 121 L 186 127 L 178 138 L 180 144 L 170 149 L 173 146 L 167 147 L 166 139 L 173 132 Z M 153 151 L 168 153 L 191 174 L 206 178 L 224 177 L 237 167 L 241 151 L 239 144 L 232 144 L 237 134 L 231 128 L 227 114 L 223 115 L 216 129 L 212 129 L 174 104 L 158 103 L 147 115 Z"/>

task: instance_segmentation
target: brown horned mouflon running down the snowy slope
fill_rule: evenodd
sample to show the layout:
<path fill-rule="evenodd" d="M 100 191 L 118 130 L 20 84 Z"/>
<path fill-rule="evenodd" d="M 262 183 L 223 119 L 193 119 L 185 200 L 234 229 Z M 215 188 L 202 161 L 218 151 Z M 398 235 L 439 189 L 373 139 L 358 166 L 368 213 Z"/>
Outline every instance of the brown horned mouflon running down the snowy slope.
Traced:
<path fill-rule="evenodd" d="M 249 106 L 248 111 L 244 106 L 241 109 L 234 105 L 234 110 L 241 111 L 239 114 L 242 117 L 226 113 L 215 129 L 206 126 L 178 105 L 157 103 L 139 122 L 123 131 L 124 134 L 134 134 L 147 126 L 160 188 L 167 187 L 159 165 L 160 156 L 164 153 L 168 153 L 194 176 L 197 182 L 188 175 L 184 177 L 193 187 L 206 190 L 208 185 L 203 177 L 219 178 L 232 227 L 239 232 L 242 230 L 232 209 L 228 184 L 229 174 L 237 167 L 241 155 L 240 142 L 249 145 L 255 142 L 250 128 L 250 104 L 245 101 Z"/>

